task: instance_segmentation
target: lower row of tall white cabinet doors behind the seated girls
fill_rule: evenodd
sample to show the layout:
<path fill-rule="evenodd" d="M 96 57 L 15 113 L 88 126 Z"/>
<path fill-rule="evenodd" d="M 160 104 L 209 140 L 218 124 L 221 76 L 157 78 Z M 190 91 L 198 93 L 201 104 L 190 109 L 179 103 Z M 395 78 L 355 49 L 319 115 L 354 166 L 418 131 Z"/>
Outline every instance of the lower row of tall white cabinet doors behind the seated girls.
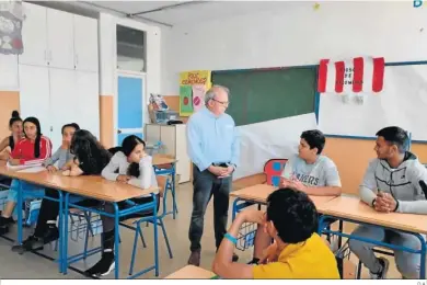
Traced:
<path fill-rule="evenodd" d="M 21 115 L 41 121 L 54 150 L 62 141 L 61 127 L 77 123 L 100 137 L 96 72 L 20 65 Z"/>

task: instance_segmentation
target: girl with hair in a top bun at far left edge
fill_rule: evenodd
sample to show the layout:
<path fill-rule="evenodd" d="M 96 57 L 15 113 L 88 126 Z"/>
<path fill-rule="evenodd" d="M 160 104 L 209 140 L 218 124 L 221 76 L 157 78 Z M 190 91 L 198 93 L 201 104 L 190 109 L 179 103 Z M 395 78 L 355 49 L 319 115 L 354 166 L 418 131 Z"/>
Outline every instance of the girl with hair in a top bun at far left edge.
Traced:
<path fill-rule="evenodd" d="M 11 135 L 3 138 L 0 142 L 0 159 L 8 160 L 18 142 L 22 139 L 22 118 L 18 111 L 12 112 L 12 117 L 9 119 L 9 130 Z"/>

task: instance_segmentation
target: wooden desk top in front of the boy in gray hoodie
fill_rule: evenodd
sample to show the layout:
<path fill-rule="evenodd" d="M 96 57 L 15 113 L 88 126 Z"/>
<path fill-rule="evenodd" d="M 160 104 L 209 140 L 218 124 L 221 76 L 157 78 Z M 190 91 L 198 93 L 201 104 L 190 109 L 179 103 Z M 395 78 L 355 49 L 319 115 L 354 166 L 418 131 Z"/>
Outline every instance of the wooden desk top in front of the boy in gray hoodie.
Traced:
<path fill-rule="evenodd" d="M 341 196 L 322 205 L 322 213 L 389 228 L 427 235 L 427 215 L 378 213 L 358 197 Z"/>

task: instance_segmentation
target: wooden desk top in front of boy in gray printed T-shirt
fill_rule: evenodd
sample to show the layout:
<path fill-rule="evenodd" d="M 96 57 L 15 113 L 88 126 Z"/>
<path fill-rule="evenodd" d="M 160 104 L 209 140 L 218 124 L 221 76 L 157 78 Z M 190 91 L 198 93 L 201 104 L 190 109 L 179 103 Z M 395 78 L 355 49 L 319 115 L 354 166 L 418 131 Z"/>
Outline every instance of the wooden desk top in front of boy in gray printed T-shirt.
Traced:
<path fill-rule="evenodd" d="M 272 185 L 257 184 L 250 187 L 233 191 L 230 193 L 230 196 L 253 201 L 257 203 L 266 203 L 268 195 L 276 190 L 277 187 Z M 327 202 L 336 197 L 335 196 L 310 196 L 310 198 L 313 201 L 318 210 L 321 212 L 322 205 L 326 204 Z"/>

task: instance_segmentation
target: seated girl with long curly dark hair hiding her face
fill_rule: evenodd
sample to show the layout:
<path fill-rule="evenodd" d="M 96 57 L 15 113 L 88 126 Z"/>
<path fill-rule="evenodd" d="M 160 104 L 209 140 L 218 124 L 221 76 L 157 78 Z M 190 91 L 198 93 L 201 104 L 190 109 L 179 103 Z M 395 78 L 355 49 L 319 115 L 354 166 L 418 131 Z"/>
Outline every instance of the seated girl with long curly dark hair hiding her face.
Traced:
<path fill-rule="evenodd" d="M 65 175 L 100 175 L 111 158 L 109 152 L 85 129 L 79 129 L 74 133 L 70 150 L 74 155 L 74 159 L 73 163 L 67 163 L 67 170 L 62 172 Z M 58 192 L 53 189 L 46 189 L 45 195 L 59 198 Z M 88 204 L 97 205 L 99 202 L 91 200 L 82 202 L 82 205 L 86 206 Z M 58 214 L 59 203 L 44 198 L 34 233 L 24 240 L 22 246 L 12 247 L 12 251 L 23 253 L 41 249 L 44 244 L 57 240 L 59 238 L 59 230 L 56 226 Z"/>

